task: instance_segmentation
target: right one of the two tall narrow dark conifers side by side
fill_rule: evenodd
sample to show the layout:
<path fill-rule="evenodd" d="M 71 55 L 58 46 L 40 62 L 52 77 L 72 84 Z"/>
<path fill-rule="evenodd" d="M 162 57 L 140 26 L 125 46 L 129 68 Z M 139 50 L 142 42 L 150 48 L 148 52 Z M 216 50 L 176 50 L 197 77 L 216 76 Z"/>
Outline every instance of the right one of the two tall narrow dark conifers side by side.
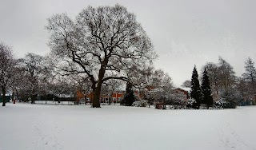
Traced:
<path fill-rule="evenodd" d="M 202 104 L 206 104 L 207 109 L 209 109 L 209 107 L 213 105 L 214 100 L 213 100 L 213 97 L 211 96 L 210 80 L 209 80 L 209 77 L 207 75 L 206 68 L 205 68 L 205 70 L 203 72 L 203 75 L 202 75 L 201 88 L 202 88 Z"/>

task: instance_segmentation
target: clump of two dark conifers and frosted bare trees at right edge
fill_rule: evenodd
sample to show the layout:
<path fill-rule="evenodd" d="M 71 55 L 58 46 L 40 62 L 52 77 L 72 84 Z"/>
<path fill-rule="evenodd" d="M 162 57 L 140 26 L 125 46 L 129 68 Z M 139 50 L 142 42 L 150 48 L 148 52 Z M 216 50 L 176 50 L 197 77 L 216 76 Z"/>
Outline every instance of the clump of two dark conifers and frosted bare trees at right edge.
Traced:
<path fill-rule="evenodd" d="M 202 66 L 201 77 L 198 77 L 197 69 L 194 67 L 191 81 L 184 81 L 182 86 L 191 88 L 191 97 L 197 104 L 196 108 L 201 104 L 212 105 L 212 100 L 215 105 L 222 105 L 225 108 L 255 105 L 256 69 L 250 57 L 245 61 L 245 69 L 242 77 L 236 77 L 234 68 L 219 57 L 218 63 L 207 62 Z M 199 81 L 202 82 L 201 86 Z"/>

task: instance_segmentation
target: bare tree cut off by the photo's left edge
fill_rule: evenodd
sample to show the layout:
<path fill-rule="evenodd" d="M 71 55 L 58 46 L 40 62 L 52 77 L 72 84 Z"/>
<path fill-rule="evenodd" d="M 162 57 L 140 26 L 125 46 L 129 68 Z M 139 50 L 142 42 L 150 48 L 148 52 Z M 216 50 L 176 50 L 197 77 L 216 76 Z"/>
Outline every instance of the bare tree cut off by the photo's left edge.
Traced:
<path fill-rule="evenodd" d="M 10 46 L 0 42 L 0 86 L 2 89 L 2 106 L 6 105 L 6 90 L 10 87 L 16 61 Z"/>

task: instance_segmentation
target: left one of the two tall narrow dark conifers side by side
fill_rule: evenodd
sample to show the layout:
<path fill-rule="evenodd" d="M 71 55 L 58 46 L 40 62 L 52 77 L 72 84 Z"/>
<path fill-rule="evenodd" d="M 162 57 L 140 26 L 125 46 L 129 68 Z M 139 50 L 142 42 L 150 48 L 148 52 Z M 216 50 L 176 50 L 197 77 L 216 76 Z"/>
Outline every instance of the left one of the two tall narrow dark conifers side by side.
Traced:
<path fill-rule="evenodd" d="M 191 78 L 190 96 L 197 102 L 196 108 L 194 109 L 199 109 L 202 104 L 202 90 L 198 81 L 198 71 L 195 66 Z"/>

